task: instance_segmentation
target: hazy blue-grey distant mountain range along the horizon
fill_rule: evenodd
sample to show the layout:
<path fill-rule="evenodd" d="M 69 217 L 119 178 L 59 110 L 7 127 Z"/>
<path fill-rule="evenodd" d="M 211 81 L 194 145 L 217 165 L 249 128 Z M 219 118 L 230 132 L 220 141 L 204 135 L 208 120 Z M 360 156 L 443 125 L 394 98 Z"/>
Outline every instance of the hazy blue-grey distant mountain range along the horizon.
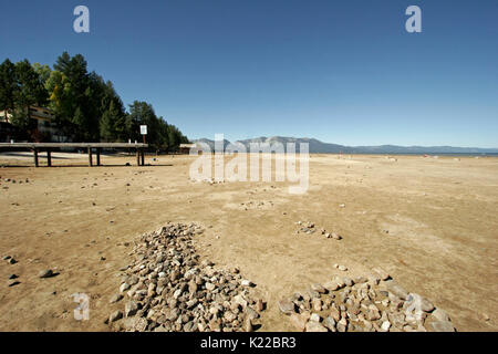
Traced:
<path fill-rule="evenodd" d="M 194 143 L 201 142 L 215 148 L 215 142 L 201 138 L 195 139 Z M 295 143 L 299 152 L 299 143 L 308 143 L 310 154 L 498 154 L 498 148 L 479 148 L 479 147 L 454 147 L 454 146 L 397 146 L 397 145 L 380 145 L 380 146 L 345 146 L 338 144 L 323 143 L 314 138 L 295 138 L 286 136 L 257 137 L 252 139 L 237 140 L 235 144 L 242 144 L 249 152 L 250 143 L 281 143 L 287 147 L 287 143 Z M 224 147 L 230 142 L 225 139 Z"/>

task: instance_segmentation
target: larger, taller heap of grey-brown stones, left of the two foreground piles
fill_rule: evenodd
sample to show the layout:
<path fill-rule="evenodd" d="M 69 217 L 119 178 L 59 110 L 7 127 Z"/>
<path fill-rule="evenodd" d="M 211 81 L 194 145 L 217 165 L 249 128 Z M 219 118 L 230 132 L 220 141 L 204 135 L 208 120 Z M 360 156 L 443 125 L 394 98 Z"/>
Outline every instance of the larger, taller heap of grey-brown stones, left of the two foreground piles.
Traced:
<path fill-rule="evenodd" d="M 111 303 L 124 303 L 106 323 L 118 331 L 253 331 L 264 310 L 256 287 L 238 269 L 216 269 L 193 246 L 201 227 L 168 223 L 146 233 L 133 250 L 135 261 L 122 269 L 120 292 Z"/>

